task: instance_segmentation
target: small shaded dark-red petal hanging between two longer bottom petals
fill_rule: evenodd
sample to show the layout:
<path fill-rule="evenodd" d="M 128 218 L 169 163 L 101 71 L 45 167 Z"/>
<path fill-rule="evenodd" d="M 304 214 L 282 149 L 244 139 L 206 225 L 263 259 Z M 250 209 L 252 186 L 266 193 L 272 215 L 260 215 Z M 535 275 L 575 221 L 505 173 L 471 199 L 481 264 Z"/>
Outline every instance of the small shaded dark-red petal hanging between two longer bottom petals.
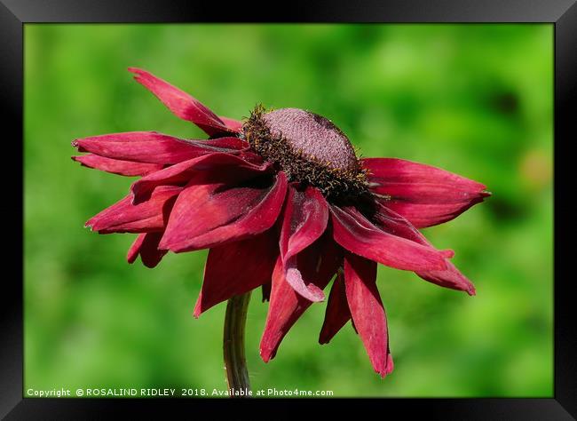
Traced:
<path fill-rule="evenodd" d="M 344 273 L 339 271 L 336 275 L 333 287 L 328 295 L 327 311 L 325 313 L 325 322 L 320 330 L 319 343 L 328 344 L 336 332 L 351 320 L 351 310 L 346 300 L 344 291 Z"/>

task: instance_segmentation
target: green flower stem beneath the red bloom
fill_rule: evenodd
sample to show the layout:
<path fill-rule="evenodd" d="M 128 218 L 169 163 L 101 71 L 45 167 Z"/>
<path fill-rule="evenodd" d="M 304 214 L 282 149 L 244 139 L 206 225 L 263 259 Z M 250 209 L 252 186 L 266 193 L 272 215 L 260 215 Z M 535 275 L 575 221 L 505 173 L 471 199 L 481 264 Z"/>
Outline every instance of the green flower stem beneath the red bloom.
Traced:
<path fill-rule="evenodd" d="M 223 351 L 226 381 L 231 396 L 250 390 L 249 371 L 244 357 L 244 326 L 247 322 L 249 301 L 250 291 L 230 298 L 226 305 Z"/>

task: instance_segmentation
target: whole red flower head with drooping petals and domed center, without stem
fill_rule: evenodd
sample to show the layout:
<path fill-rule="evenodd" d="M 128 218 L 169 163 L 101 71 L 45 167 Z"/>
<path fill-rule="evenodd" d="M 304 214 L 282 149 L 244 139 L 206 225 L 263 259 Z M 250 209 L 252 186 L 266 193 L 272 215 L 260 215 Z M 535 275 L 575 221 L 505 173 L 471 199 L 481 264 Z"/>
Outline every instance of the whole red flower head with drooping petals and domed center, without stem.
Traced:
<path fill-rule="evenodd" d="M 259 286 L 270 299 L 264 361 L 336 274 L 319 341 L 352 320 L 375 371 L 392 370 L 376 264 L 475 293 L 416 228 L 457 217 L 488 195 L 451 172 L 395 158 L 358 159 L 326 118 L 296 108 L 257 107 L 244 123 L 219 117 L 144 70 L 136 80 L 206 140 L 136 131 L 77 139 L 85 166 L 139 176 L 130 194 L 91 218 L 100 234 L 136 233 L 129 263 L 156 266 L 171 250 L 210 249 L 198 317 Z"/>

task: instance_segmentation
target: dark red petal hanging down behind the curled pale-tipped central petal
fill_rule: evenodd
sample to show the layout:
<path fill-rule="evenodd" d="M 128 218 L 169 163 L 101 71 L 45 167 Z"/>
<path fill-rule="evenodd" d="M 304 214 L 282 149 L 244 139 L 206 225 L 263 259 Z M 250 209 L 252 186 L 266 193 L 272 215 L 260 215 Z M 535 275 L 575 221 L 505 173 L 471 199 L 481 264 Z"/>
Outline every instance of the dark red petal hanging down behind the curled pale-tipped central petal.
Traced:
<path fill-rule="evenodd" d="M 298 254 L 298 267 L 305 279 L 324 289 L 338 266 L 343 261 L 342 250 L 336 245 L 329 232 Z M 295 324 L 312 301 L 298 294 L 286 281 L 282 260 L 279 257 L 273 271 L 273 285 L 270 296 L 265 330 L 260 341 L 260 356 L 268 362 L 277 352 L 282 338 Z"/>

